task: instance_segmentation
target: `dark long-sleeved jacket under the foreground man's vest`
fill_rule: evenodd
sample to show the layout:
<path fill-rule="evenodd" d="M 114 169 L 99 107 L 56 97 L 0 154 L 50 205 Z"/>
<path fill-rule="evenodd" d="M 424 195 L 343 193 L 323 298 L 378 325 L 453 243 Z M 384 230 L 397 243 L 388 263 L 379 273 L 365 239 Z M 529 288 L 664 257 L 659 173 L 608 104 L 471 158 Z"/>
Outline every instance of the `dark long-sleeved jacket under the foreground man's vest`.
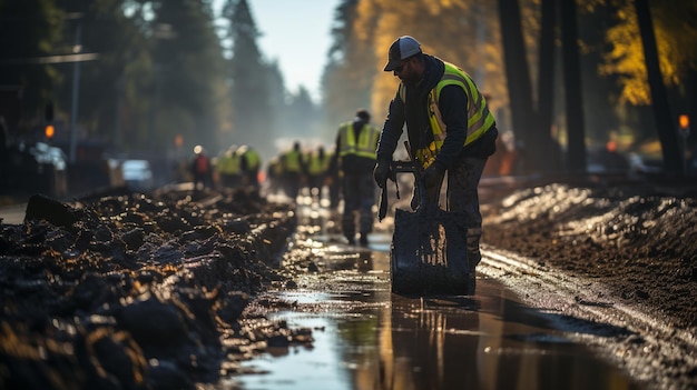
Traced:
<path fill-rule="evenodd" d="M 443 77 L 445 66 L 436 57 L 423 56 L 425 69 L 421 82 L 416 86 L 405 86 L 405 101 L 400 98 L 397 89 L 390 102 L 387 118 L 377 143 L 379 161 L 392 159 L 404 123 L 412 156 L 415 156 L 416 149 L 433 141 L 428 97 Z M 468 129 L 467 103 L 467 94 L 459 86 L 446 86 L 441 90 L 439 109 L 446 126 L 446 136 L 435 162 L 444 168 L 449 168 L 462 154 L 485 159 L 495 151 L 495 139 L 499 133 L 495 123 L 477 141 L 463 147 Z"/>

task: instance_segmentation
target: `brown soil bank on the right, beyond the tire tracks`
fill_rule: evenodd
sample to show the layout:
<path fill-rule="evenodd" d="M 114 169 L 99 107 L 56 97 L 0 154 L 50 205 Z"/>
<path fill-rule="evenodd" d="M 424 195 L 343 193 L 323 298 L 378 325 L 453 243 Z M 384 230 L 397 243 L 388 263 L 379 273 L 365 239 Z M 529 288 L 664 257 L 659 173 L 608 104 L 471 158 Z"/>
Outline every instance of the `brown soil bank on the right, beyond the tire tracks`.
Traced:
<path fill-rule="evenodd" d="M 607 284 L 697 331 L 697 198 L 644 184 L 548 184 L 482 206 L 482 240 Z"/>

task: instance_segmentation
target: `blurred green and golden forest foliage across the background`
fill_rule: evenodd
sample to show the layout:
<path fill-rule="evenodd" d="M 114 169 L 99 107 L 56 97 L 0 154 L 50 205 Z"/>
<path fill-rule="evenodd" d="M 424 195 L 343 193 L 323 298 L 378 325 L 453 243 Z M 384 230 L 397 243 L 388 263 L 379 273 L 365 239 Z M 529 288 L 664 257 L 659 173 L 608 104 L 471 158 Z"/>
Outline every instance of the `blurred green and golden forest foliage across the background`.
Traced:
<path fill-rule="evenodd" d="M 330 33 L 332 46 L 317 74 L 323 100 L 314 102 L 305 88 L 287 91 L 277 63 L 259 49 L 263 32 L 248 0 L 226 0 L 219 13 L 210 0 L 0 0 L 0 84 L 22 89 L 16 138 L 37 138 L 32 129 L 52 104 L 58 144 L 66 143 L 76 114 L 80 140 L 104 142 L 112 153 L 187 153 L 198 143 L 218 152 L 248 143 L 269 158 L 281 148 L 269 140 L 331 143 L 337 124 L 359 108 L 369 109 L 380 126 L 399 82 L 382 71 L 387 49 L 410 34 L 425 52 L 473 77 L 501 131 L 533 143 L 547 142 L 536 136 L 542 134 L 563 148 L 569 139 L 560 99 L 563 69 L 553 66 L 561 53 L 559 21 L 543 27 L 548 1 L 510 1 L 521 11 L 523 50 L 517 61 L 529 69 L 516 77 L 507 73 L 497 2 L 341 0 L 332 30 L 317 32 Z M 635 0 L 575 4 L 583 142 L 615 139 L 629 149 L 656 139 Z M 695 117 L 697 3 L 654 0 L 650 6 L 676 121 L 678 112 Z M 551 38 L 551 44 L 542 38 Z M 73 53 L 94 58 L 79 66 L 62 60 Z M 510 97 L 510 83 L 528 78 L 530 91 Z M 520 100 L 551 119 L 514 123 L 511 107 Z"/>

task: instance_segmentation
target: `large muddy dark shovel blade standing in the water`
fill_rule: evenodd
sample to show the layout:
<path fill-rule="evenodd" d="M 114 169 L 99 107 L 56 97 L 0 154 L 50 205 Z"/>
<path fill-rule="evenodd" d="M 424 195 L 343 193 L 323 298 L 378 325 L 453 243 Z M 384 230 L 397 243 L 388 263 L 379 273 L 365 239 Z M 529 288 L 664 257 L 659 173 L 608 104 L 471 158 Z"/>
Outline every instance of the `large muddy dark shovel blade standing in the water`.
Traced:
<path fill-rule="evenodd" d="M 392 292 L 467 294 L 469 262 L 465 218 L 436 204 L 395 210 L 390 251 Z"/>

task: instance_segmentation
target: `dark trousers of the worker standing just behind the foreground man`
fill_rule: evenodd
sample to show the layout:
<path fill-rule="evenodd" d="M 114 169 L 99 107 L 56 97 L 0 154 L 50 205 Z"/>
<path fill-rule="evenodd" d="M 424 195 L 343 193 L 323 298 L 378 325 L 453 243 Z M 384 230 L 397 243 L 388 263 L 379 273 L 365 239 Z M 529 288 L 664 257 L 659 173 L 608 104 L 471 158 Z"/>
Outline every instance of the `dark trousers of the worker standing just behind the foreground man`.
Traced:
<path fill-rule="evenodd" d="M 342 229 L 347 238 L 354 237 L 355 211 L 359 211 L 359 232 L 373 231 L 373 204 L 375 204 L 375 181 L 373 173 L 345 174 L 343 180 L 344 214 Z"/>

